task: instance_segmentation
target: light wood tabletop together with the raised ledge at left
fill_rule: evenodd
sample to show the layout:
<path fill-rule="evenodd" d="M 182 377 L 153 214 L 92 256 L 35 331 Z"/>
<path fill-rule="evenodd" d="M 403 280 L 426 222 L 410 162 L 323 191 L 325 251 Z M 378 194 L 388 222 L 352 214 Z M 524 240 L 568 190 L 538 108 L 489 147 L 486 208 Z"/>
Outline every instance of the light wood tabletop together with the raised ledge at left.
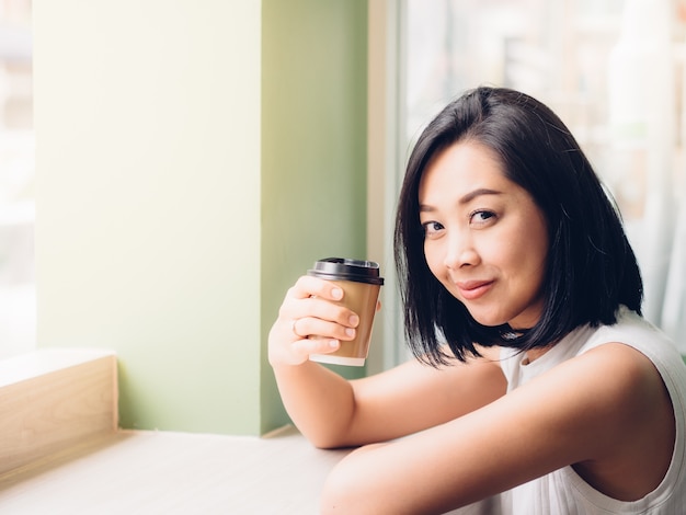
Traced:
<path fill-rule="evenodd" d="M 118 431 L 111 352 L 0 362 L 2 514 L 316 515 L 346 454 L 291 426 L 261 438 Z"/>

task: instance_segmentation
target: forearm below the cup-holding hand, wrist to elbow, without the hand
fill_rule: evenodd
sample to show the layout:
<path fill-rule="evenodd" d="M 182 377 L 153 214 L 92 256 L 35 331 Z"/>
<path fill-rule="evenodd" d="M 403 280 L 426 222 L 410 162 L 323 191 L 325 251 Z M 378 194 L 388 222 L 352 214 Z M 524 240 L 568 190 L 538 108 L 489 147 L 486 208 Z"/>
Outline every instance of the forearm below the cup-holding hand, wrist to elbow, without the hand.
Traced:
<path fill-rule="evenodd" d="M 288 415 L 315 446 L 354 445 L 348 430 L 355 414 L 355 397 L 346 379 L 313 362 L 273 369 Z"/>

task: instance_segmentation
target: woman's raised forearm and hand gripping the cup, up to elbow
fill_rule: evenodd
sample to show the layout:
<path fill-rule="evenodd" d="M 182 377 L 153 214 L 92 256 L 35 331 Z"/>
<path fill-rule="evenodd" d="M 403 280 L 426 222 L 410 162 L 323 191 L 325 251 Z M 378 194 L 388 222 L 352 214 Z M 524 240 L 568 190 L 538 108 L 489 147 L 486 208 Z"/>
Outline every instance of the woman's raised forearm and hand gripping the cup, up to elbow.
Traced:
<path fill-rule="evenodd" d="M 309 360 L 355 337 L 359 317 L 339 301 L 335 283 L 302 276 L 287 291 L 268 336 L 268 358 L 293 422 L 318 447 L 355 445 L 351 382 Z M 359 439 L 359 437 L 357 437 Z"/>

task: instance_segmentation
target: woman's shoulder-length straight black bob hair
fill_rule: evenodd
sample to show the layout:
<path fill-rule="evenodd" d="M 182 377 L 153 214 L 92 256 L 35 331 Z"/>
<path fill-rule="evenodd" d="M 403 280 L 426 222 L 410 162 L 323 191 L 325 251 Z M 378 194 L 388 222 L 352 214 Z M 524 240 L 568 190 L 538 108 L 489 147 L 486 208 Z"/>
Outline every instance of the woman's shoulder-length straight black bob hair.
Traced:
<path fill-rule="evenodd" d="M 507 325 L 478 323 L 434 277 L 424 256 L 420 181 L 432 158 L 461 141 L 484 146 L 500 158 L 505 176 L 531 195 L 547 221 L 544 313 L 534 328 L 516 335 Z M 400 193 L 395 254 L 408 343 L 433 366 L 479 356 L 475 344 L 522 352 L 546 347 L 582 325 L 615 323 L 620 305 L 641 312 L 636 256 L 591 163 L 550 108 L 505 88 L 466 92 L 420 136 Z"/>

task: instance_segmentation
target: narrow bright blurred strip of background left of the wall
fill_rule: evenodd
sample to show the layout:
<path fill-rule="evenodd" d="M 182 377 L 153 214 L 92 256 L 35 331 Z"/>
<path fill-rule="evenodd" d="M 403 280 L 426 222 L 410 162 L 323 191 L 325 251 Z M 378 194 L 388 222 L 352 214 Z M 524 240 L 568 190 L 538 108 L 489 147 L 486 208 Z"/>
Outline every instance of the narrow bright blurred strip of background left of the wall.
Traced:
<path fill-rule="evenodd" d="M 31 0 L 0 0 L 0 357 L 35 346 Z"/>

